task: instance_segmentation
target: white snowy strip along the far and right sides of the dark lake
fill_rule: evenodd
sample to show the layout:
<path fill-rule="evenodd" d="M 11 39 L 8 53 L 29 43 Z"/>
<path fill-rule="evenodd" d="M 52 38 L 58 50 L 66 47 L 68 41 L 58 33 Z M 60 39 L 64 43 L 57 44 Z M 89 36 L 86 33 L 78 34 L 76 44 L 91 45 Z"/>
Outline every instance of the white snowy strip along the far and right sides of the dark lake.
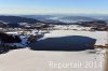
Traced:
<path fill-rule="evenodd" d="M 108 42 L 107 31 L 76 31 L 76 30 L 52 30 L 50 33 L 45 33 L 42 39 L 46 38 L 60 38 L 67 36 L 83 36 L 96 39 L 95 45 L 106 45 Z M 42 40 L 40 39 L 40 40 Z"/>

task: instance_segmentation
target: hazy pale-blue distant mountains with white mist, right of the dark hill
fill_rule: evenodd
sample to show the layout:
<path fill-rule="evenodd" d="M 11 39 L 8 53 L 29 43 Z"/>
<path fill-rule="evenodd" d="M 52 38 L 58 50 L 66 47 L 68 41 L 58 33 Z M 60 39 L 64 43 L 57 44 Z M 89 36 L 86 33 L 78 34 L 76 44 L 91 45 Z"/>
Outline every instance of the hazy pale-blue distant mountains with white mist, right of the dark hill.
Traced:
<path fill-rule="evenodd" d="M 40 22 L 58 24 L 58 23 L 78 23 L 78 22 L 94 22 L 94 20 L 106 20 L 100 16 L 70 16 L 70 15 L 23 15 L 23 17 L 35 18 Z"/>

